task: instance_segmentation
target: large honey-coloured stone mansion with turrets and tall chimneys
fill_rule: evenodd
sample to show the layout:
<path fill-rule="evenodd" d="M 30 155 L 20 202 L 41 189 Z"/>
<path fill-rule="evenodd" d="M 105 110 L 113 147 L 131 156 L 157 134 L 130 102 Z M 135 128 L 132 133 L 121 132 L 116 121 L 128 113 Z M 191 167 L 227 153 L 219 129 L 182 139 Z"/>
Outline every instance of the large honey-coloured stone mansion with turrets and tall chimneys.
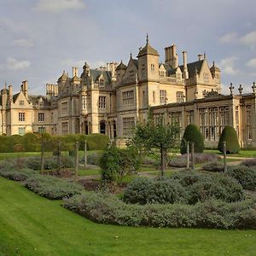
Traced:
<path fill-rule="evenodd" d="M 224 125 L 236 129 L 241 147 L 256 147 L 256 85 L 243 94 L 230 84 L 230 95 L 221 94 L 220 70 L 209 67 L 206 55 L 196 61 L 178 61 L 175 44 L 165 48 L 165 62 L 148 41 L 127 65 L 111 62 L 107 67 L 64 71 L 57 84 L 46 84 L 45 96 L 32 96 L 28 82 L 20 92 L 12 85 L 1 90 L 0 134 L 23 135 L 46 131 L 52 135 L 102 133 L 120 146 L 137 122 L 145 122 L 148 110 L 166 124 L 177 122 L 183 133 L 190 123 L 201 129 L 206 146 L 214 147 Z"/>

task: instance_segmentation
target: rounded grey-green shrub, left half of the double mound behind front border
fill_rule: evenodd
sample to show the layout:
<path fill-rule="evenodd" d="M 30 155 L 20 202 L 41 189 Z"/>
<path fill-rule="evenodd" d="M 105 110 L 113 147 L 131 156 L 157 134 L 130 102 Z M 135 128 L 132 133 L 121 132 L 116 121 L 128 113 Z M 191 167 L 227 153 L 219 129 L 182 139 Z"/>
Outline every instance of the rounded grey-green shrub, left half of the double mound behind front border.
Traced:
<path fill-rule="evenodd" d="M 124 201 L 129 203 L 174 203 L 187 202 L 186 190 L 177 181 L 171 179 L 151 179 L 138 177 L 128 184 Z"/>

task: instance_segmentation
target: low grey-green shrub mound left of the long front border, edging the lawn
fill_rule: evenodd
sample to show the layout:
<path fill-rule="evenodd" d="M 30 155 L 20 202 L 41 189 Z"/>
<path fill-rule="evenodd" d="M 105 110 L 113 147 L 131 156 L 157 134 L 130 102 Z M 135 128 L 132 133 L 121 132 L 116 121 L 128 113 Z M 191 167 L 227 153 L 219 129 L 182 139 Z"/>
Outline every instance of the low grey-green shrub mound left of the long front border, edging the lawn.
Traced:
<path fill-rule="evenodd" d="M 23 183 L 27 189 L 48 199 L 62 199 L 79 194 L 83 187 L 77 183 L 67 182 L 59 177 L 33 176 Z"/>

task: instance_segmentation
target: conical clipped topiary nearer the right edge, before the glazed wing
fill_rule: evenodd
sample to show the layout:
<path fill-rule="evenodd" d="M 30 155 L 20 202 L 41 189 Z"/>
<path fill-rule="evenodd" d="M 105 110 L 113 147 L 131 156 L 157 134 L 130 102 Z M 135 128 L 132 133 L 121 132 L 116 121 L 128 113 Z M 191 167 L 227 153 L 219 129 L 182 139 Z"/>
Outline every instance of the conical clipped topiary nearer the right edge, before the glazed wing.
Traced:
<path fill-rule="evenodd" d="M 227 154 L 237 154 L 240 145 L 236 135 L 236 130 L 230 125 L 226 125 L 218 140 L 218 151 L 223 152 L 223 143 L 226 142 Z"/>

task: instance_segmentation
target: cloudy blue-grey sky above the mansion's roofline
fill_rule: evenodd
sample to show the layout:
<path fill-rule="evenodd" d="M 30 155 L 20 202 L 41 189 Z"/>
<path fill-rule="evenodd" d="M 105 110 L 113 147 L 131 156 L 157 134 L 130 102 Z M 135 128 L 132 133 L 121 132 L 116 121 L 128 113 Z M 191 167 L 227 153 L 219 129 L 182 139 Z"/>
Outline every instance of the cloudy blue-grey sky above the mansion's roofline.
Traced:
<path fill-rule="evenodd" d="M 45 94 L 63 70 L 82 73 L 107 62 L 125 64 L 146 43 L 157 49 L 177 44 L 188 61 L 206 53 L 222 73 L 224 93 L 230 83 L 251 92 L 256 82 L 256 3 L 254 0 L 0 0 L 0 88 Z"/>

